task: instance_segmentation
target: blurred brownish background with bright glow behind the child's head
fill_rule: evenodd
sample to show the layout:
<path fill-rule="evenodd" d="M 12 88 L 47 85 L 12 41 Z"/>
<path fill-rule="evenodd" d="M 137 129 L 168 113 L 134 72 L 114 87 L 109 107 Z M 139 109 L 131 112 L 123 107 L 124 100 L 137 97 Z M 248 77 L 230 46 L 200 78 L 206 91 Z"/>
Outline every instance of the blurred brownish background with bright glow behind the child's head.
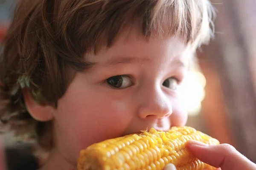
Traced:
<path fill-rule="evenodd" d="M 187 125 L 232 144 L 256 163 L 256 0 L 211 2 L 215 38 L 198 49 L 183 85 Z M 0 0 L 0 41 L 14 3 Z M 11 134 L 4 137 L 12 144 Z"/>

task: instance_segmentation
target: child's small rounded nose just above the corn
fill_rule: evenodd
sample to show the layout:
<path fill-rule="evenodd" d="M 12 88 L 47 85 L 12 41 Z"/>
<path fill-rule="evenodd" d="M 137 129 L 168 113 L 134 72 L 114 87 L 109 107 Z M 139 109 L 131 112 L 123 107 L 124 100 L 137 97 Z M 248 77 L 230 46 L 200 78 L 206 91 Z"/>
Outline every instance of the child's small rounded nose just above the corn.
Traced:
<path fill-rule="evenodd" d="M 170 99 L 161 89 L 144 90 L 138 115 L 141 119 L 161 119 L 172 114 Z"/>

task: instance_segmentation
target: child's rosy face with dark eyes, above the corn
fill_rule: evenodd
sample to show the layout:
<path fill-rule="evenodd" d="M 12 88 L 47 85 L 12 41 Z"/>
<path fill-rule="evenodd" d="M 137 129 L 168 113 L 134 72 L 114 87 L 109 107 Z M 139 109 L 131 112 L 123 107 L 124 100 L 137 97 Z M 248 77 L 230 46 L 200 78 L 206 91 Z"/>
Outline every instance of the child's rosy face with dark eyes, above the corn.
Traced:
<path fill-rule="evenodd" d="M 96 64 L 78 73 L 58 102 L 55 142 L 72 161 L 95 142 L 186 124 L 178 88 L 189 48 L 179 39 L 126 38 L 122 33 L 111 48 L 85 54 Z"/>

